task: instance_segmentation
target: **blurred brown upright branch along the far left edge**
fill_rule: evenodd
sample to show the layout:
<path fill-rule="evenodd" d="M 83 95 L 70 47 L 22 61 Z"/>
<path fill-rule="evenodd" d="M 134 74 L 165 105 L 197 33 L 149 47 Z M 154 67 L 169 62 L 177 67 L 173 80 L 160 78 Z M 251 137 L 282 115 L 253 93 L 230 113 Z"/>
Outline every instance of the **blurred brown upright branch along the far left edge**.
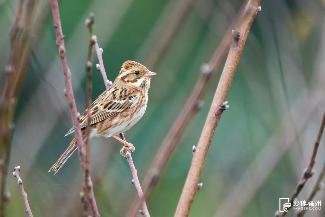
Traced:
<path fill-rule="evenodd" d="M 30 27 L 35 0 L 29 1 L 26 8 L 24 23 L 21 23 L 23 0 L 18 1 L 15 21 L 10 30 L 10 55 L 5 67 L 6 82 L 0 97 L 0 147 L 1 147 L 1 184 L 0 184 L 0 217 L 5 216 L 5 205 L 8 198 L 5 194 L 6 176 L 10 157 L 12 131 L 14 128 L 13 115 L 17 105 L 17 96 L 26 72 L 32 42 Z M 36 35 L 33 32 L 33 35 Z"/>

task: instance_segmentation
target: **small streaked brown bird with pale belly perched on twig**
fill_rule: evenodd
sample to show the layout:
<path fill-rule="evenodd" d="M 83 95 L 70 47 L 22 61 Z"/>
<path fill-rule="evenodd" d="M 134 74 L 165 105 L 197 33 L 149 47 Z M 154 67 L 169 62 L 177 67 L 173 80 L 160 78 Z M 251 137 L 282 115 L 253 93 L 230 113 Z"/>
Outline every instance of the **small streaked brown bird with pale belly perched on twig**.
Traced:
<path fill-rule="evenodd" d="M 157 75 L 147 67 L 135 61 L 123 63 L 120 73 L 110 88 L 98 96 L 90 107 L 90 138 L 113 137 L 123 143 L 120 151 L 121 156 L 125 147 L 135 147 L 117 135 L 124 133 L 136 124 L 146 111 L 148 104 L 148 89 L 151 77 Z M 87 110 L 80 118 L 82 137 L 86 138 Z M 72 127 L 66 135 L 74 132 Z M 66 136 L 65 135 L 65 136 Z M 78 148 L 76 138 L 71 141 L 67 150 L 50 168 L 49 172 L 57 173 L 66 160 Z"/>

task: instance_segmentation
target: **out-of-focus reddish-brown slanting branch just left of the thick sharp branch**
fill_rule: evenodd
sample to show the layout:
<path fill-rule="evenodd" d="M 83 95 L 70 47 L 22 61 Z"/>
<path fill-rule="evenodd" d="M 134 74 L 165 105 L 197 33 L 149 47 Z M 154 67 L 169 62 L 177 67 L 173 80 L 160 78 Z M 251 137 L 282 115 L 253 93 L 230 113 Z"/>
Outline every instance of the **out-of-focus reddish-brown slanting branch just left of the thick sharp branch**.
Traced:
<path fill-rule="evenodd" d="M 160 174 L 162 173 L 170 156 L 175 150 L 175 147 L 178 144 L 178 141 L 180 140 L 182 134 L 184 133 L 191 119 L 194 117 L 195 114 L 198 113 L 202 106 L 201 99 L 204 97 L 206 90 L 209 87 L 209 84 L 214 79 L 218 69 L 221 66 L 221 63 L 229 47 L 232 29 L 234 26 L 238 25 L 238 21 L 241 18 L 245 8 L 244 6 L 246 5 L 243 5 L 240 8 L 238 14 L 235 16 L 235 19 L 230 24 L 230 28 L 227 30 L 226 34 L 222 38 L 220 45 L 216 48 L 209 63 L 203 64 L 201 66 L 201 76 L 195 84 L 192 94 L 188 97 L 188 101 L 186 102 L 184 108 L 179 113 L 172 128 L 169 130 L 168 134 L 163 140 L 159 151 L 157 152 L 153 160 L 152 166 L 148 170 L 142 182 L 142 189 L 147 201 L 151 193 L 153 192 L 155 186 L 157 185 L 160 178 Z M 139 201 L 139 198 L 136 198 L 129 209 L 128 216 L 135 216 L 135 210 L 138 210 L 140 205 L 141 201 Z"/>

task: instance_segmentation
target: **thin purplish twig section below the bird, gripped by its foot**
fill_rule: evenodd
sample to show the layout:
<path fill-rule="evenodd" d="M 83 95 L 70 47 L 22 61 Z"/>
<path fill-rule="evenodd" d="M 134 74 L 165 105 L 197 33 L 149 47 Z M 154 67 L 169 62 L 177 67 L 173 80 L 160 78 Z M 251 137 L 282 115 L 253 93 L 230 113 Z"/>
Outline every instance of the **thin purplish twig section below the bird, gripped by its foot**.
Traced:
<path fill-rule="evenodd" d="M 123 133 L 120 133 L 120 137 L 121 137 L 121 139 L 126 141 Z M 142 198 L 144 198 L 144 195 L 143 195 L 141 185 L 140 185 L 140 182 L 139 182 L 139 178 L 138 178 L 138 175 L 137 175 L 137 170 L 136 170 L 136 168 L 134 166 L 134 163 L 133 163 L 133 160 L 132 160 L 131 152 L 126 147 L 124 149 L 124 153 L 125 153 L 127 162 L 129 163 L 130 169 L 131 169 L 131 172 L 132 172 L 132 177 L 133 177 L 132 183 L 134 184 L 134 186 L 136 186 L 136 191 L 138 193 L 138 196 L 139 196 L 140 200 L 143 200 Z M 149 214 L 149 211 L 148 211 L 147 204 L 146 204 L 145 200 L 143 200 L 143 203 L 142 203 L 142 210 L 139 210 L 139 211 L 140 211 L 140 213 L 143 213 L 144 216 L 150 217 L 150 214 Z"/>

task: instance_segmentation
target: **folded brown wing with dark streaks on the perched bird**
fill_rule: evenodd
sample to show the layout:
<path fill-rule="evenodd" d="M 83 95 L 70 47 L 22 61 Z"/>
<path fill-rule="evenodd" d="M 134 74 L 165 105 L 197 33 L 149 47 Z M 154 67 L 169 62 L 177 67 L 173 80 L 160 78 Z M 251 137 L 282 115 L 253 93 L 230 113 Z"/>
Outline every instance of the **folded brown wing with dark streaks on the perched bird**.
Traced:
<path fill-rule="evenodd" d="M 140 93 L 135 89 L 110 88 L 106 90 L 90 107 L 90 124 L 96 124 L 117 113 L 123 112 L 125 109 L 131 107 L 132 104 L 139 99 L 139 96 Z M 86 111 L 80 118 L 81 129 L 85 128 L 88 124 Z M 72 127 L 65 136 L 72 132 L 74 132 L 74 127 Z"/>

